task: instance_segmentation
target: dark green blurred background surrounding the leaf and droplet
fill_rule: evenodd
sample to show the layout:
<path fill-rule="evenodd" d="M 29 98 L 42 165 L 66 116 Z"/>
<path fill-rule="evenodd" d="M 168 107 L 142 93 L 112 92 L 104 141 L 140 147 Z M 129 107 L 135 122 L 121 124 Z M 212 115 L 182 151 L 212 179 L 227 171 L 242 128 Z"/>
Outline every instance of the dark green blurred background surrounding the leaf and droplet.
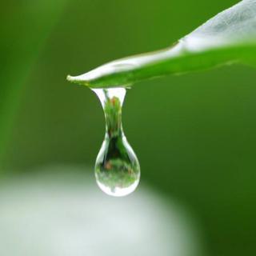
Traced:
<path fill-rule="evenodd" d="M 93 166 L 102 107 L 66 74 L 169 46 L 234 3 L 2 3 L 2 175 L 54 163 Z M 210 255 L 255 253 L 255 80 L 245 66 L 162 78 L 134 86 L 124 104 L 141 182 L 194 211 Z"/>

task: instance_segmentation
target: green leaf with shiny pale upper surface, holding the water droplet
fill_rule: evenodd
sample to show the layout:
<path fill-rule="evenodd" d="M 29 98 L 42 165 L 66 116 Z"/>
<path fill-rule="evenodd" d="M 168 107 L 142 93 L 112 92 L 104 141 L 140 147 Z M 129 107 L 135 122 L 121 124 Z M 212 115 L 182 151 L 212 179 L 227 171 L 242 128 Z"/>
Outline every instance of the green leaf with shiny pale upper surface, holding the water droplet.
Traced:
<path fill-rule="evenodd" d="M 109 62 L 86 74 L 68 75 L 67 80 L 92 88 L 130 86 L 238 62 L 256 65 L 256 0 L 222 11 L 170 48 Z"/>

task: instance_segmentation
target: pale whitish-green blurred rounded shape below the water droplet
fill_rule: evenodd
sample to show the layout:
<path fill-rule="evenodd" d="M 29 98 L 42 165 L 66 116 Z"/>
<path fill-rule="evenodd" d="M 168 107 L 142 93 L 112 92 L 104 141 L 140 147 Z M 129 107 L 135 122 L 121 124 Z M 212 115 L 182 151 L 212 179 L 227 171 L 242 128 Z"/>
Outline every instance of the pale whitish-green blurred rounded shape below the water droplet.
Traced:
<path fill-rule="evenodd" d="M 183 206 L 146 186 L 107 196 L 89 170 L 43 166 L 1 186 L 1 254 L 202 255 L 198 224 Z"/>

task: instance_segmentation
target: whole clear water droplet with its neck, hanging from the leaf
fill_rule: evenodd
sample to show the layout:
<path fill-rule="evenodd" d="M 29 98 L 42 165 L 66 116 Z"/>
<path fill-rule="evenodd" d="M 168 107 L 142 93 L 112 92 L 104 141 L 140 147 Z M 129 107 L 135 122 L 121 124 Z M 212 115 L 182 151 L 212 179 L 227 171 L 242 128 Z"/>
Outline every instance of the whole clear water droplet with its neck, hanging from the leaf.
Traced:
<path fill-rule="evenodd" d="M 125 88 L 93 89 L 102 102 L 106 134 L 95 163 L 98 186 L 106 194 L 125 196 L 138 186 L 138 159 L 122 130 L 122 102 Z"/>

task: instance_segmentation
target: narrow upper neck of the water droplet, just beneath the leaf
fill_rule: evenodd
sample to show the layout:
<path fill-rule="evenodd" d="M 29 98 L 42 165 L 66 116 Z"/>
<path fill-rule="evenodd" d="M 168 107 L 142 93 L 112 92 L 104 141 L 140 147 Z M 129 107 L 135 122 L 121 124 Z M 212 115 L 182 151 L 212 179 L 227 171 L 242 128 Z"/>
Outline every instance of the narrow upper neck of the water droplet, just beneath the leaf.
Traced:
<path fill-rule="evenodd" d="M 125 88 L 94 89 L 102 103 L 106 118 L 106 138 L 123 135 L 122 103 L 126 95 Z"/>

